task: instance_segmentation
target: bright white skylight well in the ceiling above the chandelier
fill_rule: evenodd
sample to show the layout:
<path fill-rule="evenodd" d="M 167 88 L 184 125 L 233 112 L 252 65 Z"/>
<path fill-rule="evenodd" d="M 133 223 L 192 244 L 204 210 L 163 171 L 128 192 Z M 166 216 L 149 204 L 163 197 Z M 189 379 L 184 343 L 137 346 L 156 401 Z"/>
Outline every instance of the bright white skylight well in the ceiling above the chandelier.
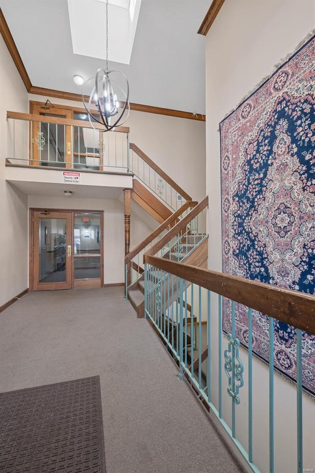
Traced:
<path fill-rule="evenodd" d="M 74 54 L 106 58 L 106 0 L 67 0 Z M 130 64 L 141 0 L 108 1 L 108 59 Z"/>

